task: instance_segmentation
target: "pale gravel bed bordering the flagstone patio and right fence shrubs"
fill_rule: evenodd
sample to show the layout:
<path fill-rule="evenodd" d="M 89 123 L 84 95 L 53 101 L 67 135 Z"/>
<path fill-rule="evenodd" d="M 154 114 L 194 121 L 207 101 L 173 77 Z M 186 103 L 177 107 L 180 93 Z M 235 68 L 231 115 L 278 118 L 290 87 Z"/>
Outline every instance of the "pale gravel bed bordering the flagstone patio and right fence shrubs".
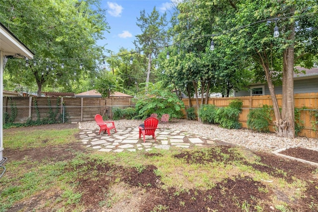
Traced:
<path fill-rule="evenodd" d="M 141 120 L 117 120 L 114 121 L 116 128 L 138 127 Z M 318 150 L 318 139 L 296 137 L 294 139 L 280 138 L 274 133 L 256 133 L 248 129 L 228 130 L 217 125 L 203 124 L 198 121 L 184 119 L 172 120 L 169 122 L 170 129 L 178 129 L 189 133 L 199 134 L 213 139 L 242 145 L 246 148 L 262 151 L 275 151 L 281 148 L 303 147 Z M 79 123 L 80 129 L 99 129 L 95 121 Z"/>

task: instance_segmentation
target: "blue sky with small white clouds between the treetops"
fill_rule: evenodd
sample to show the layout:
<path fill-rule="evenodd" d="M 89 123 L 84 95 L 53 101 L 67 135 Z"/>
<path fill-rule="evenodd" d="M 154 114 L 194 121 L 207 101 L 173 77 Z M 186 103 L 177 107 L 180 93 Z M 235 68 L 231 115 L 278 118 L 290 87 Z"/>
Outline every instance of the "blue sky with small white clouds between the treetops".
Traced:
<path fill-rule="evenodd" d="M 142 33 L 136 25 L 140 11 L 145 9 L 146 14 L 151 14 L 156 6 L 160 15 L 167 11 L 167 20 L 169 20 L 174 5 L 172 0 L 102 0 L 101 2 L 102 7 L 107 9 L 106 19 L 110 33 L 105 33 L 106 40 L 99 40 L 97 44 L 100 46 L 107 44 L 105 48 L 115 54 L 121 47 L 128 50 L 135 49 L 133 44 L 135 36 Z"/>

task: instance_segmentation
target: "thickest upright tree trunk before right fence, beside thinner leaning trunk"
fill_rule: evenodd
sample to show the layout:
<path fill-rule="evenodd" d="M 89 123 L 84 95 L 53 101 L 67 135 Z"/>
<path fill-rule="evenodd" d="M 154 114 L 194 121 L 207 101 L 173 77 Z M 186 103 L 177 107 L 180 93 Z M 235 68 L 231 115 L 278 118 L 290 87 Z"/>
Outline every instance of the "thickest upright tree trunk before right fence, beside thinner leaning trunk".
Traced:
<path fill-rule="evenodd" d="M 292 12 L 293 9 L 292 9 Z M 295 24 L 290 26 L 291 33 L 288 40 L 295 39 Z M 294 42 L 286 49 L 283 57 L 283 105 L 281 119 L 274 124 L 279 137 L 295 138 L 295 105 L 294 105 Z"/>

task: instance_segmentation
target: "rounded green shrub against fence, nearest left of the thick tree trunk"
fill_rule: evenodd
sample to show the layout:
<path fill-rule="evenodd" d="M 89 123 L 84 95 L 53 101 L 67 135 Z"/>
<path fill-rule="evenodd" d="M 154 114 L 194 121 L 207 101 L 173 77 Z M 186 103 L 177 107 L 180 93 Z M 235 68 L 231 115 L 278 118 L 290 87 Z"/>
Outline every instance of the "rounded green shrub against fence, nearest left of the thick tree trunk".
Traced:
<path fill-rule="evenodd" d="M 247 128 L 257 132 L 269 132 L 269 122 L 272 121 L 271 110 L 268 105 L 251 110 L 247 115 Z"/>

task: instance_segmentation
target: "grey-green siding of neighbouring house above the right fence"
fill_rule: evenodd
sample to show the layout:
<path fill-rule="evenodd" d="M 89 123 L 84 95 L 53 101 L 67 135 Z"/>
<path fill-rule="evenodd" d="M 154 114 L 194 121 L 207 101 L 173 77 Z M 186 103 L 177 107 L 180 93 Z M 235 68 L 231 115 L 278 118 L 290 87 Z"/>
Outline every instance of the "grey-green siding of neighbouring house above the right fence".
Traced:
<path fill-rule="evenodd" d="M 264 95 L 270 95 L 267 84 L 255 84 L 254 86 L 264 85 Z M 282 94 L 282 86 L 275 86 L 275 93 Z M 318 92 L 318 78 L 298 79 L 294 80 L 294 93 L 317 93 Z M 240 90 L 235 92 L 235 96 L 250 96 L 250 90 Z"/>

